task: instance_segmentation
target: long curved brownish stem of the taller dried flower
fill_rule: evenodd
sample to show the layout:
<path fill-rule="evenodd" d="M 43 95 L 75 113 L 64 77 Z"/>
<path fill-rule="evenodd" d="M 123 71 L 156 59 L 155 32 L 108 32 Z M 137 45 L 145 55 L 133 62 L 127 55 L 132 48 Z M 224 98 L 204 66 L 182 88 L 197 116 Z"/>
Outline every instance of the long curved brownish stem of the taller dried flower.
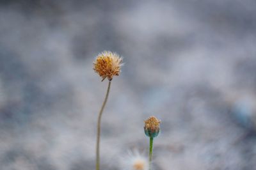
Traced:
<path fill-rule="evenodd" d="M 95 166 L 96 170 L 100 170 L 100 121 L 101 121 L 102 112 L 108 100 L 110 85 L 111 85 L 111 81 L 108 82 L 108 90 L 107 90 L 104 102 L 102 104 L 102 107 L 100 109 L 98 123 L 97 123 L 97 146 L 96 146 L 96 166 Z"/>

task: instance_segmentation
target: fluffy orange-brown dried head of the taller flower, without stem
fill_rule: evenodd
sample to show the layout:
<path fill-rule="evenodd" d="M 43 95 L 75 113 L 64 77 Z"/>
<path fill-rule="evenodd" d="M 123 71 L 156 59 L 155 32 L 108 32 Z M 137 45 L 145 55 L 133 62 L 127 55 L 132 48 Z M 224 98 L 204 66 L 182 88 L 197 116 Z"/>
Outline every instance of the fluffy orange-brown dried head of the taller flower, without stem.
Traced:
<path fill-rule="evenodd" d="M 102 77 L 102 81 L 106 78 L 111 81 L 114 75 L 118 76 L 121 72 L 122 60 L 116 52 L 101 52 L 93 63 L 93 70 Z"/>

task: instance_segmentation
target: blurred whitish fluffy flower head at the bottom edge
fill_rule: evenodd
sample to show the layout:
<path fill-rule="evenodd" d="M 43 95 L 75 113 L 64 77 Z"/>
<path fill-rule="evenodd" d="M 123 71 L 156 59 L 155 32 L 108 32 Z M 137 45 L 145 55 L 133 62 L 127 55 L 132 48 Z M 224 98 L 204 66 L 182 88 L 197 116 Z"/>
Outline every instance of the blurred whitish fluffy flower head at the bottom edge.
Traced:
<path fill-rule="evenodd" d="M 128 155 L 121 158 L 120 169 L 148 170 L 148 158 L 141 155 L 138 150 L 129 151 Z"/>

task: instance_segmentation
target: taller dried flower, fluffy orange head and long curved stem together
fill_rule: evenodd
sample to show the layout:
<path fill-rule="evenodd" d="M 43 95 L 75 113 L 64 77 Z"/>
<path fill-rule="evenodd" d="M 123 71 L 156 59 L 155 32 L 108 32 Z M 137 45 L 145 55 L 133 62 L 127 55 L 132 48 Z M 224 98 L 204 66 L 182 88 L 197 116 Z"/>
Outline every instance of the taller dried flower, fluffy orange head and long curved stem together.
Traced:
<path fill-rule="evenodd" d="M 118 76 L 120 74 L 120 68 L 122 66 L 122 58 L 118 56 L 118 54 L 110 52 L 110 51 L 104 51 L 101 52 L 95 62 L 93 63 L 93 70 L 102 77 L 102 81 L 104 79 L 108 78 L 108 89 L 107 93 L 104 99 L 104 102 L 102 104 L 102 107 L 100 108 L 98 121 L 97 121 L 97 144 L 96 144 L 96 166 L 95 169 L 100 169 L 100 121 L 102 112 L 104 110 L 104 107 L 108 100 L 109 90 L 111 86 L 111 81 L 113 79 L 113 76 Z"/>

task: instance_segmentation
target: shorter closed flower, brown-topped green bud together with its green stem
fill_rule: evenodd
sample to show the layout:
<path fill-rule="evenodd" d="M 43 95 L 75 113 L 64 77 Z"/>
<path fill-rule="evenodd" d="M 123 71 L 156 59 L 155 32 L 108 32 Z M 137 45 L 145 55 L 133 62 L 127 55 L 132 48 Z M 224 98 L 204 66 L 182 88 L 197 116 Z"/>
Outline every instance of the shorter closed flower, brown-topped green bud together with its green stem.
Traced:
<path fill-rule="evenodd" d="M 144 132 L 149 137 L 149 154 L 148 154 L 148 164 L 149 169 L 151 167 L 152 162 L 152 153 L 153 153 L 153 140 L 154 137 L 157 137 L 157 135 L 160 132 L 160 120 L 157 120 L 156 117 L 150 116 L 147 118 L 147 120 L 144 121 Z"/>

